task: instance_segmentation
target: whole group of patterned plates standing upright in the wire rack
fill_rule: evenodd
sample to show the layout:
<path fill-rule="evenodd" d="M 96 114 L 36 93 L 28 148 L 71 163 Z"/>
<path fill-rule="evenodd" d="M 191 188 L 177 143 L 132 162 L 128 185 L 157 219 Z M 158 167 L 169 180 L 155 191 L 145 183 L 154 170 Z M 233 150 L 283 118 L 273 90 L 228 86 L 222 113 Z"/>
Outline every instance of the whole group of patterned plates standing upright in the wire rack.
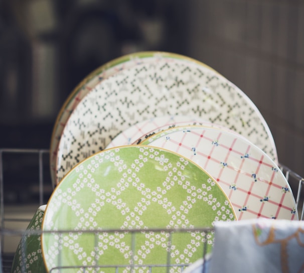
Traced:
<path fill-rule="evenodd" d="M 143 232 L 131 251 L 130 233 L 108 229 L 297 220 L 277 164 L 263 116 L 214 69 L 165 52 L 116 59 L 83 80 L 58 114 L 51 140 L 55 190 L 42 230 L 79 234 L 44 233 L 45 266 L 166 263 L 167 233 Z M 213 235 L 173 238 L 172 263 L 197 260 L 205 240 L 210 252 Z"/>

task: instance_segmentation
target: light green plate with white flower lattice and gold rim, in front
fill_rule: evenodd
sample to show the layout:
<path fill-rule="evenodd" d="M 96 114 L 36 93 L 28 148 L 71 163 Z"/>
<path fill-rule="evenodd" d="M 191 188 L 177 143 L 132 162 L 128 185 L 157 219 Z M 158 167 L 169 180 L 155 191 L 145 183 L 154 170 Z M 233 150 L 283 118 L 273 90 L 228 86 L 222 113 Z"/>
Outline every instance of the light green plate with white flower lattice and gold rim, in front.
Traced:
<path fill-rule="evenodd" d="M 138 232 L 131 257 L 131 234 L 126 229 L 195 228 L 212 226 L 216 220 L 236 220 L 235 213 L 222 189 L 198 165 L 159 148 L 117 147 L 84 160 L 55 188 L 42 230 L 78 232 L 43 233 L 43 256 L 49 270 L 129 265 L 130 260 L 134 265 L 166 264 L 169 233 Z M 210 252 L 213 235 L 174 234 L 171 263 L 197 260 L 203 253 L 202 241 L 207 241 Z"/>

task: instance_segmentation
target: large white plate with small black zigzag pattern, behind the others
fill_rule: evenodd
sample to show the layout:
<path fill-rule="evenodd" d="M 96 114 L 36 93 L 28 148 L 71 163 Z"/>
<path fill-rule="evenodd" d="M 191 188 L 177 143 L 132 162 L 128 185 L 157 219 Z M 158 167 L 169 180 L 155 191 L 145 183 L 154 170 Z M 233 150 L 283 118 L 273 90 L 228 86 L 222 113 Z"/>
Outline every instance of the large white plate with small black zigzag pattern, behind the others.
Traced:
<path fill-rule="evenodd" d="M 66 123 L 57 153 L 57 181 L 138 121 L 189 115 L 244 135 L 272 158 L 269 128 L 254 104 L 228 80 L 203 66 L 159 59 L 100 82 Z"/>

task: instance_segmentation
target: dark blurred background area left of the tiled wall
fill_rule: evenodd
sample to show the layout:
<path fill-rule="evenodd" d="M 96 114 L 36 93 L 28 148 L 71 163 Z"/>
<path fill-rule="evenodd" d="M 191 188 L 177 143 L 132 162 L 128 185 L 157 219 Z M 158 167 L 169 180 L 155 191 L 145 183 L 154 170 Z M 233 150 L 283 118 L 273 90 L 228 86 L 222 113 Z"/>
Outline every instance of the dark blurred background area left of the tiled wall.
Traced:
<path fill-rule="evenodd" d="M 186 7 L 171 0 L 0 1 L 0 149 L 49 149 L 69 94 L 112 59 L 137 51 L 186 55 Z M 35 155 L 5 154 L 3 163 L 5 202 L 37 201 Z M 44 169 L 50 181 L 48 159 Z"/>

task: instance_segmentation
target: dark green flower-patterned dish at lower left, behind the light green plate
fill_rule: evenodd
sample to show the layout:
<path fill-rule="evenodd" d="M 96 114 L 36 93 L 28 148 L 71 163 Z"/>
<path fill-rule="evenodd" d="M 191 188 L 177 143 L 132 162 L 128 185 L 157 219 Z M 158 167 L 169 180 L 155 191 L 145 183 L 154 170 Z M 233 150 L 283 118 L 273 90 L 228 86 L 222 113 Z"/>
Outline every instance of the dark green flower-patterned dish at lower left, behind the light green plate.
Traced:
<path fill-rule="evenodd" d="M 28 234 L 20 240 L 12 264 L 12 273 L 47 272 L 42 257 L 39 233 L 45 209 L 46 205 L 38 208 L 27 227 Z M 33 234 L 30 233 L 31 231 Z"/>

